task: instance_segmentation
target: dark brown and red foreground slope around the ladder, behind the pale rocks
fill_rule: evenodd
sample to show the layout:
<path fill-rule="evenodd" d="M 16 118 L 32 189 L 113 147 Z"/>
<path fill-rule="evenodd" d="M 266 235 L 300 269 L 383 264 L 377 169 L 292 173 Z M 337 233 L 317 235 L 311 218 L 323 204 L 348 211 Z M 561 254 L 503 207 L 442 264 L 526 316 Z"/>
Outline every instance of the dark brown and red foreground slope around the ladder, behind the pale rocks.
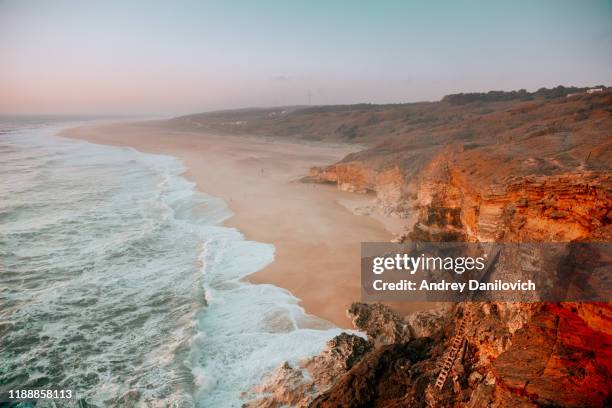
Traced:
<path fill-rule="evenodd" d="M 586 306 L 587 320 L 578 307 L 585 305 L 460 304 L 449 313 L 454 319 L 430 336 L 373 349 L 311 406 L 606 406 L 612 385 L 610 306 Z M 455 322 L 468 310 L 475 323 L 445 387 L 435 390 Z"/>

